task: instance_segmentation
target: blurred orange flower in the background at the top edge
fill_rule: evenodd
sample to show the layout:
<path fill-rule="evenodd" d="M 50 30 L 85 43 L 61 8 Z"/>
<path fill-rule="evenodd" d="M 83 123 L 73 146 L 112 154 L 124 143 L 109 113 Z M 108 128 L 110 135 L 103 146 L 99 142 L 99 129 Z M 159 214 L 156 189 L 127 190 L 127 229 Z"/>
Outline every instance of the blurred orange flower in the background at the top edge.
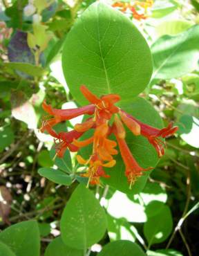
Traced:
<path fill-rule="evenodd" d="M 121 12 L 131 12 L 133 18 L 140 21 L 147 18 L 148 8 L 153 6 L 153 0 L 133 1 L 133 3 L 119 1 L 113 3 L 112 6 L 118 8 Z"/>

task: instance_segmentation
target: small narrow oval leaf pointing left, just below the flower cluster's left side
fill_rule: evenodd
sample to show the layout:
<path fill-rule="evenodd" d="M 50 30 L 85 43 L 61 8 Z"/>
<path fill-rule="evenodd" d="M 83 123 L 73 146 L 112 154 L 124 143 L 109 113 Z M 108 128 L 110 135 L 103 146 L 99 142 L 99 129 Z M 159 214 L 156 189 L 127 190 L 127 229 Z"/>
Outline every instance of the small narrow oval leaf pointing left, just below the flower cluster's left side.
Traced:
<path fill-rule="evenodd" d="M 63 172 L 61 170 L 44 167 L 40 168 L 38 172 L 41 176 L 44 176 L 45 178 L 57 184 L 70 185 L 72 183 L 70 176 L 68 176 L 66 172 Z"/>

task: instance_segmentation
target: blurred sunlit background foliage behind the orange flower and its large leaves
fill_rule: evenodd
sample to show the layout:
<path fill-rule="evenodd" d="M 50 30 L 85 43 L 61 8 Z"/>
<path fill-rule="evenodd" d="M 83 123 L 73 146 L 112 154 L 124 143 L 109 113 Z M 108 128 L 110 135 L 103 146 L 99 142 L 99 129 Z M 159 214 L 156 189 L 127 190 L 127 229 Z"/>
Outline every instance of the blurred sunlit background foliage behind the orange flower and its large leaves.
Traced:
<path fill-rule="evenodd" d="M 45 116 L 41 102 L 46 98 L 56 108 L 78 106 L 64 80 L 61 51 L 75 20 L 93 2 L 0 3 L 0 225 L 3 230 L 37 219 L 41 254 L 60 235 L 64 205 L 77 183 L 84 183 L 76 175 L 73 154 L 53 161 L 53 139 L 38 130 Z M 165 124 L 171 120 L 179 130 L 167 140 L 166 154 L 139 194 L 123 194 L 108 185 L 91 188 L 106 209 L 108 232 L 90 255 L 120 239 L 137 241 L 151 256 L 198 255 L 199 2 L 139 1 L 145 2 L 150 4 L 144 8 L 135 3 L 136 12 L 123 8 L 129 1 L 106 3 L 123 11 L 146 38 L 154 71 L 141 96 Z M 70 130 L 79 121 L 56 129 Z"/>

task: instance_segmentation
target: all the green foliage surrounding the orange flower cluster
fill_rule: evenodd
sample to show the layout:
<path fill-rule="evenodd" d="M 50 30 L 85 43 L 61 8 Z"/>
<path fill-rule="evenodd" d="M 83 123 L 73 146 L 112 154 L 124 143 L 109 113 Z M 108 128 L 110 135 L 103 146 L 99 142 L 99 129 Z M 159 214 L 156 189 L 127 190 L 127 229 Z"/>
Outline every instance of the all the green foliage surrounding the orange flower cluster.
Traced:
<path fill-rule="evenodd" d="M 124 12 L 111 6 L 115 2 L 131 6 Z M 198 255 L 199 1 L 140 2 L 0 4 L 0 256 Z M 131 7 L 144 13 L 139 4 L 145 3 L 139 20 Z M 86 166 L 76 153 L 67 149 L 57 157 L 59 135 L 53 142 L 47 129 L 39 131 L 53 118 L 44 113 L 44 100 L 55 109 L 88 104 L 82 84 L 97 97 L 120 95 L 117 106 L 148 125 L 179 127 L 166 138 L 161 158 L 146 138 L 126 128 L 135 160 L 154 168 L 131 190 L 118 143 L 117 163 L 104 167 L 110 178 L 86 188 Z M 88 116 L 53 129 L 71 131 L 82 118 Z M 89 159 L 91 145 L 78 154 Z M 178 221 L 186 242 L 179 230 L 171 235 Z"/>

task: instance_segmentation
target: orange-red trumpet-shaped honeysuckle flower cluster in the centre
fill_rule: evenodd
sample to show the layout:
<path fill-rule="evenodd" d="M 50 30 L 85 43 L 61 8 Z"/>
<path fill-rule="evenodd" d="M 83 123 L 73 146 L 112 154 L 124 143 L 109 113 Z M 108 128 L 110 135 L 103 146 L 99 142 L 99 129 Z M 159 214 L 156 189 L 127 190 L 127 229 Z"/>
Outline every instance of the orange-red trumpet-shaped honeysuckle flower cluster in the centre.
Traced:
<path fill-rule="evenodd" d="M 146 137 L 149 143 L 155 147 L 159 157 L 164 154 L 164 140 L 162 139 L 174 134 L 178 127 L 173 127 L 172 124 L 164 129 L 151 127 L 115 106 L 115 103 L 120 100 L 119 95 L 108 94 L 98 98 L 84 85 L 80 86 L 80 90 L 91 104 L 77 109 L 53 109 L 45 101 L 43 102 L 44 110 L 52 118 L 42 123 L 41 132 L 47 131 L 55 138 L 55 149 L 58 157 L 63 157 L 66 149 L 69 149 L 70 152 L 78 152 L 82 147 L 93 144 L 93 151 L 88 159 L 82 158 L 79 154 L 76 156 L 79 164 L 87 166 L 86 173 L 82 176 L 88 177 L 88 184 L 93 185 L 99 184 L 100 177 L 109 177 L 104 167 L 111 168 L 116 164 L 114 156 L 118 154 L 117 149 L 115 149 L 118 144 L 126 168 L 125 175 L 131 187 L 138 177 L 153 167 L 144 169 L 137 163 L 126 143 L 124 126 L 135 136 Z M 73 131 L 57 133 L 53 129 L 53 126 L 59 122 L 83 114 L 91 117 L 81 124 L 76 124 Z M 93 136 L 86 140 L 79 140 L 90 129 L 94 131 Z M 109 138 L 111 134 L 115 135 L 117 143 Z"/>

